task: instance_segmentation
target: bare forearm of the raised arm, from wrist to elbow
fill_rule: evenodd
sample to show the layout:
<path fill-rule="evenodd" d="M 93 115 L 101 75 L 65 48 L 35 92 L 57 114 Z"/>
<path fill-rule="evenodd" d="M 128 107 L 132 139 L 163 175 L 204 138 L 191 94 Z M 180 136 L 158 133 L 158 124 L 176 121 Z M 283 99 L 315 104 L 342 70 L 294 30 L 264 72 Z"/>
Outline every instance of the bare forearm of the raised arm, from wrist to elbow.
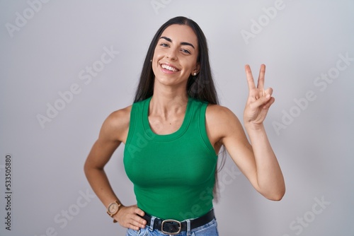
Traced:
<path fill-rule="evenodd" d="M 251 125 L 245 127 L 256 162 L 258 191 L 268 199 L 280 200 L 285 193 L 285 182 L 264 126 L 262 124 L 256 128 Z"/>

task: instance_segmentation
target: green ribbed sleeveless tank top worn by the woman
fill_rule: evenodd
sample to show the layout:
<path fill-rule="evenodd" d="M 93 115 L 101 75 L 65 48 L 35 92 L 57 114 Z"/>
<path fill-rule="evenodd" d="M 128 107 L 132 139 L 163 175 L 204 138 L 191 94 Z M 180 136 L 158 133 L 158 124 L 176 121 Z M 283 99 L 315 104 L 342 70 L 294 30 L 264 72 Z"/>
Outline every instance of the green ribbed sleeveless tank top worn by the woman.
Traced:
<path fill-rule="evenodd" d="M 173 134 L 149 126 L 151 98 L 132 105 L 124 166 L 137 206 L 161 219 L 185 220 L 212 208 L 217 155 L 207 137 L 207 103 L 188 99 L 183 124 Z"/>

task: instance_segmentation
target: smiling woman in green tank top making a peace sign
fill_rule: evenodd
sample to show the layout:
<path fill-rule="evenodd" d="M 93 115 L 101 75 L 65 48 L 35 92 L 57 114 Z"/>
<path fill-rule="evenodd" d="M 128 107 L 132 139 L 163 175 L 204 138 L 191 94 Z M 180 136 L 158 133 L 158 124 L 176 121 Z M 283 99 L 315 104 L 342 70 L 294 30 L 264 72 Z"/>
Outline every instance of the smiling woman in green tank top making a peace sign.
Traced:
<path fill-rule="evenodd" d="M 135 102 L 109 115 L 85 163 L 86 177 L 113 222 L 127 235 L 218 235 L 212 199 L 217 153 L 224 146 L 239 170 L 267 199 L 285 183 L 263 121 L 274 98 L 245 66 L 249 98 L 244 127 L 218 104 L 205 35 L 184 17 L 167 21 L 147 52 Z M 125 206 L 103 167 L 120 143 L 137 205 Z"/>

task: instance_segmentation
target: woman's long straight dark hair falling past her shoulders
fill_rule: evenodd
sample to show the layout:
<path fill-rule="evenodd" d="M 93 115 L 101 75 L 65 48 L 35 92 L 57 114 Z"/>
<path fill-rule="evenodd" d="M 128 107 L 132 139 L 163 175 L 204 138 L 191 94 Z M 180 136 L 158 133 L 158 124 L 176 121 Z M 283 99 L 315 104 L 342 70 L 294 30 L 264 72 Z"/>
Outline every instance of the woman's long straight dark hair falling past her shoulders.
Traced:
<path fill-rule="evenodd" d="M 142 66 L 142 73 L 140 75 L 139 85 L 135 93 L 134 102 L 139 102 L 151 97 L 154 93 L 154 72 L 152 71 L 151 60 L 154 57 L 154 50 L 164 30 L 170 25 L 188 25 L 193 29 L 198 38 L 198 58 L 200 64 L 200 72 L 197 76 L 190 75 L 187 82 L 187 93 L 191 98 L 202 100 L 210 104 L 219 104 L 217 92 L 215 90 L 214 81 L 212 80 L 212 72 L 209 63 L 209 54 L 207 49 L 207 39 L 202 33 L 199 25 L 195 21 L 177 16 L 171 18 L 159 30 L 157 30 L 152 42 L 147 51 L 144 65 Z"/>

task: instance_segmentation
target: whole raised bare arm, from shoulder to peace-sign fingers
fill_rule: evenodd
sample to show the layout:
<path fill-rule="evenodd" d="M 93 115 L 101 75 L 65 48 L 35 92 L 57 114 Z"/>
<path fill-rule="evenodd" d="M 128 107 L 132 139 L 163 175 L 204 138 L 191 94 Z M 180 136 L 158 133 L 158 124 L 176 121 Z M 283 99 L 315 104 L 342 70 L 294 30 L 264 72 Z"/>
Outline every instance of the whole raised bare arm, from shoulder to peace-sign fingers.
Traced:
<path fill-rule="evenodd" d="M 251 69 L 246 66 L 249 99 L 244 112 L 244 126 L 251 144 L 239 119 L 226 107 L 208 107 L 207 124 L 210 124 L 210 134 L 227 148 L 232 160 L 253 187 L 267 199 L 279 201 L 285 194 L 285 182 L 263 126 L 268 109 L 274 102 L 271 97 L 273 91 L 263 90 L 264 73 L 265 66 L 261 66 L 256 88 Z"/>

